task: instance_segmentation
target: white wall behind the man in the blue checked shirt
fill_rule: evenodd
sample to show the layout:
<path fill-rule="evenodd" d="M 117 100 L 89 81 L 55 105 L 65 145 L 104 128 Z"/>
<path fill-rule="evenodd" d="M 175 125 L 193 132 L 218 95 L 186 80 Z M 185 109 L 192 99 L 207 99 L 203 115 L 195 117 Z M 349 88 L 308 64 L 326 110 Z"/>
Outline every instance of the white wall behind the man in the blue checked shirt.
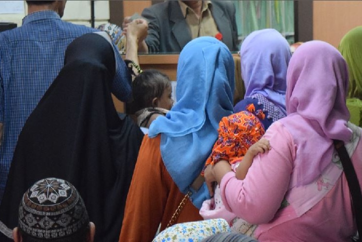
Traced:
<path fill-rule="evenodd" d="M 0 22 L 13 22 L 21 26 L 22 19 L 27 14 L 27 4 L 24 1 L 24 13 L 22 14 L 0 14 Z M 1 2 L 0 2 L 1 7 Z M 63 20 L 91 26 L 90 24 L 90 1 L 89 0 L 68 0 L 64 10 Z M 109 22 L 109 1 L 94 1 L 95 26 Z"/>

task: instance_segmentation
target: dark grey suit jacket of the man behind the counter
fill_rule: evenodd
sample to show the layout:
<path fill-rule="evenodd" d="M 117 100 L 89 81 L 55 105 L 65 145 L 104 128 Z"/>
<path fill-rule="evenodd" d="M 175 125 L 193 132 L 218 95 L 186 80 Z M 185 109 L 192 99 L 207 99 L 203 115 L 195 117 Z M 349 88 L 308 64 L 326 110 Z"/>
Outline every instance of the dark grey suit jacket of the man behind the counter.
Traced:
<path fill-rule="evenodd" d="M 231 50 L 237 50 L 238 37 L 235 6 L 230 1 L 212 1 L 211 12 L 222 41 Z M 168 0 L 145 8 L 142 12 L 148 23 L 146 44 L 149 53 L 180 52 L 191 40 L 188 25 L 178 1 Z"/>

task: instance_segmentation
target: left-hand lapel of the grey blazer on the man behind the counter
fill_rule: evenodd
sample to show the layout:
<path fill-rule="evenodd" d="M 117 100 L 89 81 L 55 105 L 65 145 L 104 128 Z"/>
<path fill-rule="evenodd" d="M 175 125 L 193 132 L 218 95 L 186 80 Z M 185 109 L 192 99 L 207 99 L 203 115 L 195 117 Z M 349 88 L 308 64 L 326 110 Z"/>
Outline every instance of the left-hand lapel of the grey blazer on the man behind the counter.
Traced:
<path fill-rule="evenodd" d="M 170 11 L 170 25 L 172 26 L 172 34 L 175 36 L 177 42 L 180 45 L 180 49 L 186 45 L 191 40 L 190 30 L 184 19 L 180 4 L 178 1 L 170 2 L 171 11 Z"/>

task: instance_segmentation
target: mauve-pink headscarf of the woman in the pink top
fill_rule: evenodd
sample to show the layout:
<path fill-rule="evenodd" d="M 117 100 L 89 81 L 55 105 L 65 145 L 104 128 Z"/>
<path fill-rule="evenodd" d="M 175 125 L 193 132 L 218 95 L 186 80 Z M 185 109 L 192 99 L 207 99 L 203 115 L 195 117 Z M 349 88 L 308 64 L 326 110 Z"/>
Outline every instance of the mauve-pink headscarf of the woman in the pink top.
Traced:
<path fill-rule="evenodd" d="M 331 162 L 332 139 L 348 141 L 347 64 L 323 41 L 302 44 L 287 71 L 287 117 L 280 120 L 296 144 L 297 186 L 313 182 Z"/>

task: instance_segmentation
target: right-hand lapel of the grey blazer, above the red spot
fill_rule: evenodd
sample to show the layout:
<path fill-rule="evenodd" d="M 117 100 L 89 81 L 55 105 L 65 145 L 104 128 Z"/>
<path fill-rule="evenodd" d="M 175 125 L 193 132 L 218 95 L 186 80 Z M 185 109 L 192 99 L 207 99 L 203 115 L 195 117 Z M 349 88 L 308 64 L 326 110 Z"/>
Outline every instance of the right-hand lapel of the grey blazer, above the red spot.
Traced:
<path fill-rule="evenodd" d="M 222 34 L 222 42 L 224 42 L 227 46 L 233 46 L 232 41 L 232 33 L 231 33 L 231 26 L 229 18 L 225 16 L 222 9 L 217 6 L 217 4 L 212 5 L 212 14 L 217 25 L 218 31 Z"/>

